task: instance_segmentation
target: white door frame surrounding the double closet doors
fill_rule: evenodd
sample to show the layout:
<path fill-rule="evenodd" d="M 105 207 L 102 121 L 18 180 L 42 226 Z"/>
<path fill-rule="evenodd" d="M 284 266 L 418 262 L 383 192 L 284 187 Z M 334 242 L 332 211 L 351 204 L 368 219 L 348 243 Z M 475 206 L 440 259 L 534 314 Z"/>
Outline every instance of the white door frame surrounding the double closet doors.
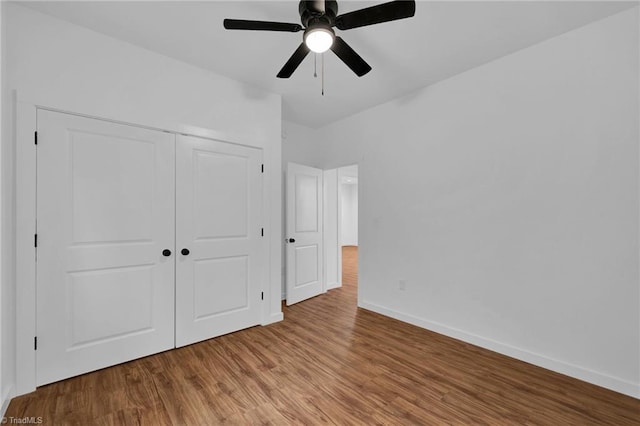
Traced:
<path fill-rule="evenodd" d="M 274 194 L 282 197 L 279 172 L 281 153 L 269 144 L 255 141 L 234 140 L 229 135 L 213 129 L 194 127 L 157 118 L 148 123 L 136 123 L 130 117 L 113 117 L 109 113 L 102 116 L 90 115 L 74 111 L 77 105 L 65 108 L 65 102 L 38 102 L 37 96 L 23 97 L 17 91 L 12 92 L 11 111 L 14 115 L 14 133 L 12 143 L 15 146 L 15 281 L 11 284 L 15 291 L 15 388 L 9 391 L 8 397 L 24 395 L 36 389 L 36 258 L 34 238 L 36 234 L 36 145 L 34 135 L 37 131 L 38 109 L 65 114 L 73 114 L 102 121 L 157 130 L 166 133 L 183 134 L 199 138 L 212 139 L 234 145 L 260 148 L 263 150 L 262 222 L 264 224 L 264 240 L 262 250 L 264 259 L 262 291 L 265 298 L 261 310 L 261 325 L 282 321 L 284 318 L 281 304 L 281 201 L 272 200 Z M 92 111 L 100 114 L 101 111 Z"/>

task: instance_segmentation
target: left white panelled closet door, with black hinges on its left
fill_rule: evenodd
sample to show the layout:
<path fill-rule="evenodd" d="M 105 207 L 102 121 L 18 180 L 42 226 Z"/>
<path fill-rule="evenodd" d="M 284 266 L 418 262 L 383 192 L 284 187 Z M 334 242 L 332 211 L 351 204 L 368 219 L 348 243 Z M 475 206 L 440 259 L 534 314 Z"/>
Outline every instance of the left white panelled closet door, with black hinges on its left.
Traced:
<path fill-rule="evenodd" d="M 174 346 L 174 146 L 38 111 L 38 385 Z"/>

